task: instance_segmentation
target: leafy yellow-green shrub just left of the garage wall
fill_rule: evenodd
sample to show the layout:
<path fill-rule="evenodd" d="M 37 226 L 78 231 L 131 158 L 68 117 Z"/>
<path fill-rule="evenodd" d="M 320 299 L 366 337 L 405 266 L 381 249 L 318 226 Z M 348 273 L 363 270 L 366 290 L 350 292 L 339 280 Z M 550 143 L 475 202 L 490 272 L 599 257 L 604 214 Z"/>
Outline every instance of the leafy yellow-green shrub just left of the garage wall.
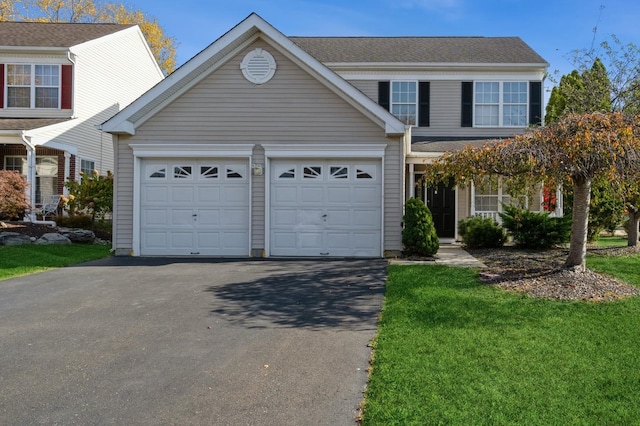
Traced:
<path fill-rule="evenodd" d="M 68 180 L 64 186 L 69 197 L 64 198 L 65 209 L 71 216 L 89 215 L 92 221 L 104 220 L 113 211 L 113 174 L 100 176 L 97 170 L 81 175 L 80 181 Z"/>

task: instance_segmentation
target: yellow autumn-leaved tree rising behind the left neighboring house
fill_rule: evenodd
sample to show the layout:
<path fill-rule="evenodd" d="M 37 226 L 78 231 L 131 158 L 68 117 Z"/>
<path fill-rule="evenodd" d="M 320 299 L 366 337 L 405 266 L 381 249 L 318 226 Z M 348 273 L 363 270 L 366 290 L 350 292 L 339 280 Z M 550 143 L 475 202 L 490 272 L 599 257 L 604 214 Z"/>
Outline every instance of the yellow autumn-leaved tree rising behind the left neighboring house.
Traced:
<path fill-rule="evenodd" d="M 158 20 L 122 3 L 100 0 L 0 0 L 0 20 L 138 24 L 165 74 L 176 68 L 176 43 Z"/>

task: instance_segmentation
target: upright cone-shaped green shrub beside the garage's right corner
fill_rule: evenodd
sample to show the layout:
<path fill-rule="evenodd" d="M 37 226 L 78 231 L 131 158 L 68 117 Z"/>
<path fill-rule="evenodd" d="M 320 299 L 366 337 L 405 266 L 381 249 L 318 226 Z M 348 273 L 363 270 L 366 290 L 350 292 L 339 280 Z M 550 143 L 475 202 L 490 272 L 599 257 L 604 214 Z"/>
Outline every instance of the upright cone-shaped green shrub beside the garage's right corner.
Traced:
<path fill-rule="evenodd" d="M 421 200 L 410 198 L 406 202 L 402 220 L 402 245 L 405 254 L 433 256 L 438 252 L 440 241 L 433 225 L 433 217 Z"/>

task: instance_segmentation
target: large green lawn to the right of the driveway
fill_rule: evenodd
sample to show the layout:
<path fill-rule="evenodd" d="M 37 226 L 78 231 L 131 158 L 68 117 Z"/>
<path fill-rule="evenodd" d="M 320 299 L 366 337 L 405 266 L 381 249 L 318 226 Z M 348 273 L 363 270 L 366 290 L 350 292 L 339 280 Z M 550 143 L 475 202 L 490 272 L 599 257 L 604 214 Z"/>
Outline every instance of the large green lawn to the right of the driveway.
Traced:
<path fill-rule="evenodd" d="M 639 256 L 589 265 L 640 284 Z M 640 424 L 639 330 L 640 298 L 539 300 L 392 265 L 363 425 Z"/>

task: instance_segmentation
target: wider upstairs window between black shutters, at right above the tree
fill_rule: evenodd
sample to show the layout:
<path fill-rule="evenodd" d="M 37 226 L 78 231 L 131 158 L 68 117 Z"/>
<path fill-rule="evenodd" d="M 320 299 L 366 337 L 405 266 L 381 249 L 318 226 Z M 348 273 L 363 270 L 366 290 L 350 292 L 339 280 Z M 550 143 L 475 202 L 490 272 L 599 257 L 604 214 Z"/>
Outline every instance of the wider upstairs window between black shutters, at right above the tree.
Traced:
<path fill-rule="evenodd" d="M 475 125 L 478 127 L 525 127 L 528 96 L 527 82 L 476 82 Z"/>

